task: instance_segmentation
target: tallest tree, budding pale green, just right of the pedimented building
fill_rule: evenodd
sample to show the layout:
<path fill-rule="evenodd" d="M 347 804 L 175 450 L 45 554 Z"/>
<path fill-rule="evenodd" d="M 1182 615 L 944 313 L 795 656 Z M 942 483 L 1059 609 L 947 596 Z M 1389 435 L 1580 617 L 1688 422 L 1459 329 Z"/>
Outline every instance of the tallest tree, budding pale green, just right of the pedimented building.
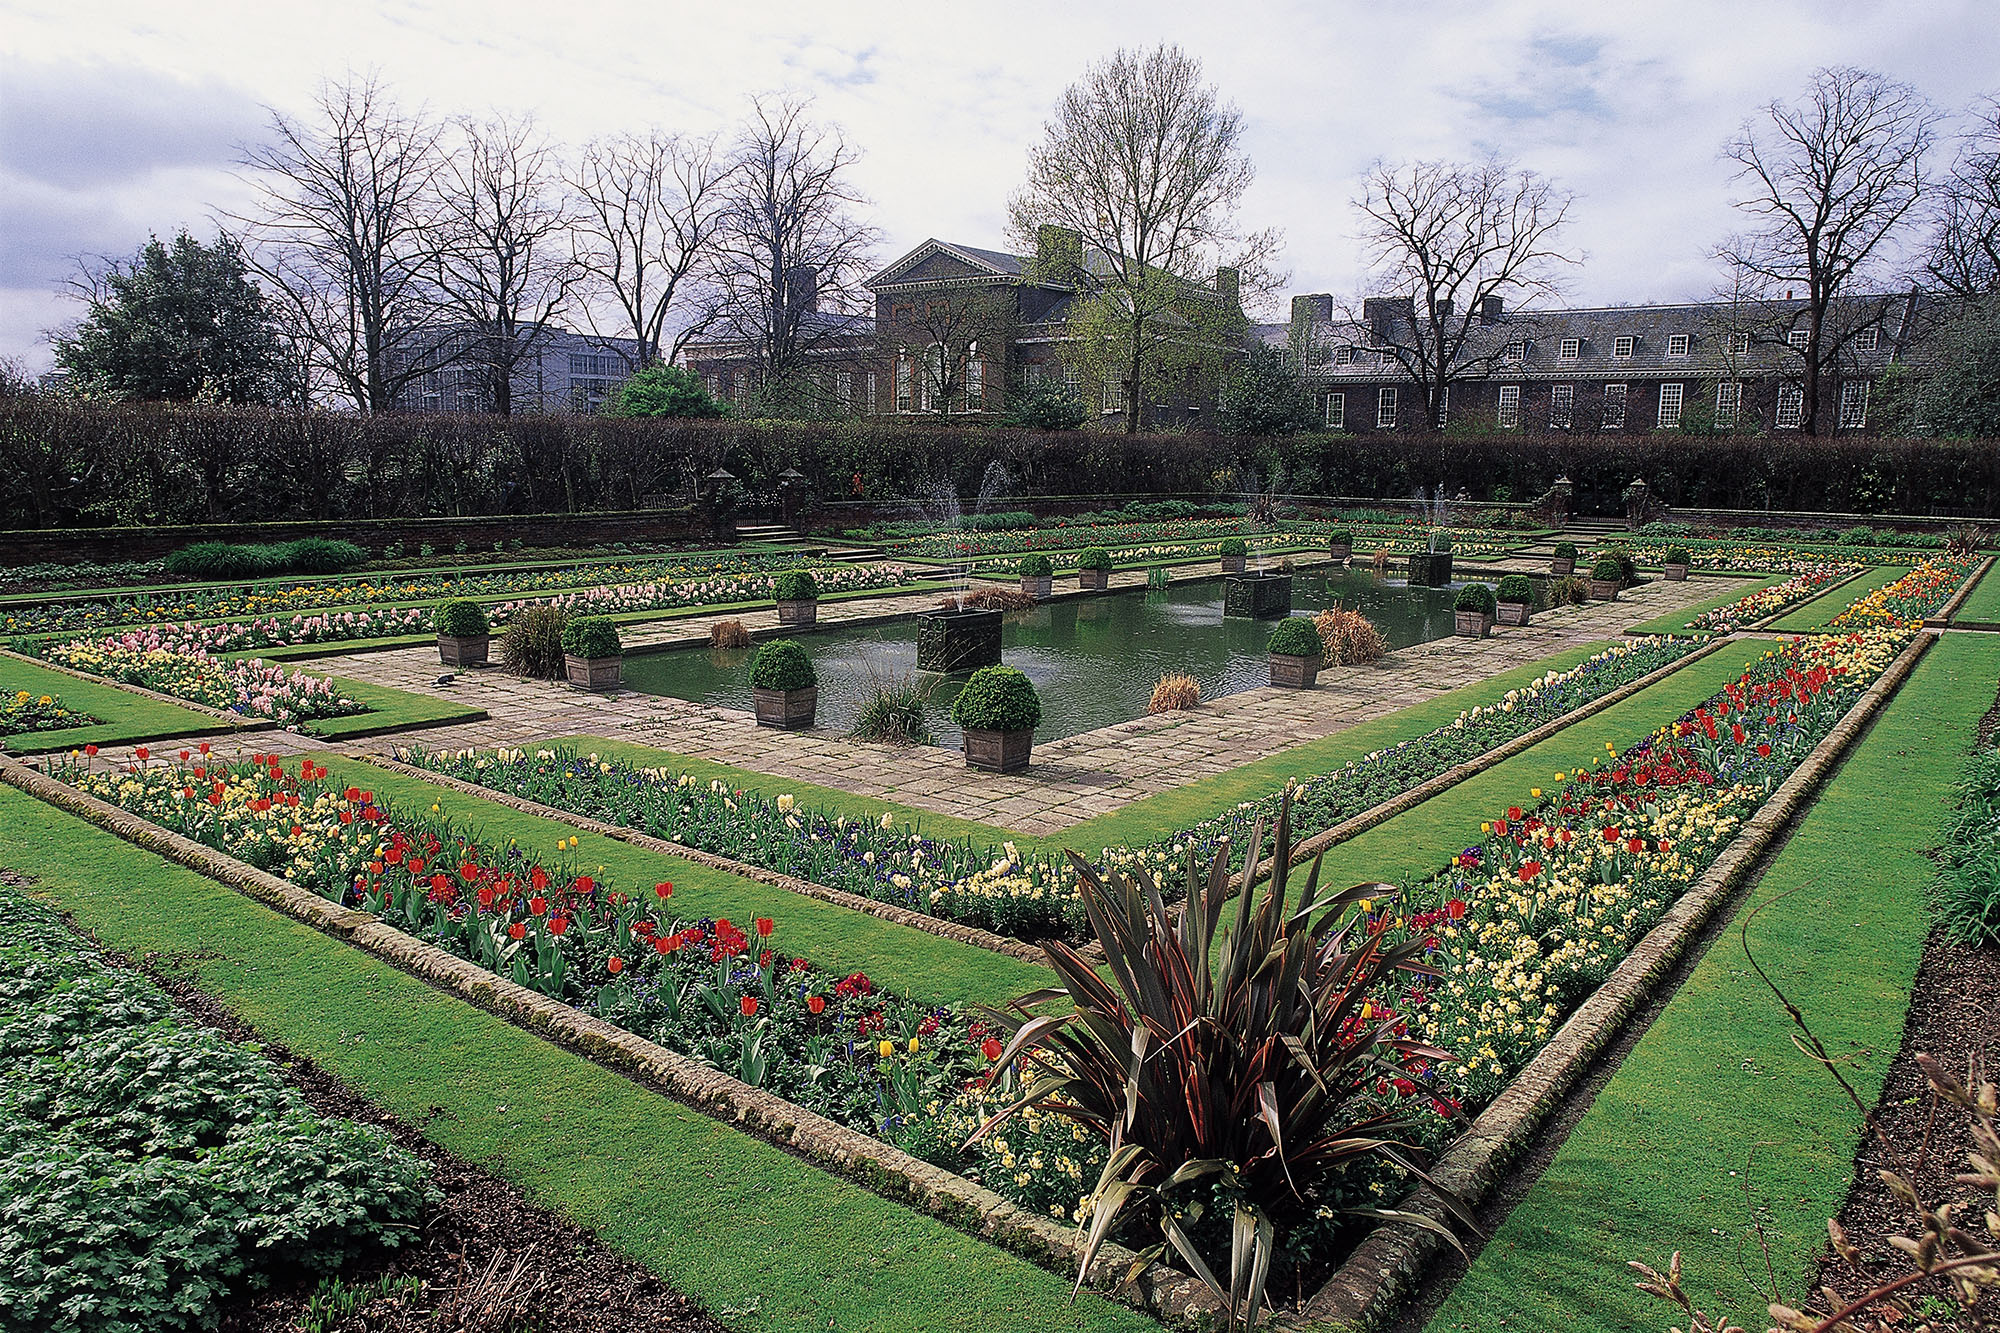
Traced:
<path fill-rule="evenodd" d="M 1078 312 L 1076 328 L 1096 330 L 1090 342 L 1102 346 L 1078 342 L 1068 354 L 1122 382 L 1128 434 L 1150 382 L 1194 368 L 1172 362 L 1234 342 L 1226 324 L 1242 320 L 1236 292 L 1202 296 L 1216 268 L 1252 286 L 1282 280 L 1270 272 L 1278 232 L 1238 228 L 1256 178 L 1242 136 L 1242 112 L 1202 82 L 1202 64 L 1184 50 L 1120 50 L 1064 90 L 1008 204 L 1016 242 L 1044 262 L 1042 228 L 1080 238 L 1062 272 L 1036 276 L 1090 294 L 1096 308 Z"/>

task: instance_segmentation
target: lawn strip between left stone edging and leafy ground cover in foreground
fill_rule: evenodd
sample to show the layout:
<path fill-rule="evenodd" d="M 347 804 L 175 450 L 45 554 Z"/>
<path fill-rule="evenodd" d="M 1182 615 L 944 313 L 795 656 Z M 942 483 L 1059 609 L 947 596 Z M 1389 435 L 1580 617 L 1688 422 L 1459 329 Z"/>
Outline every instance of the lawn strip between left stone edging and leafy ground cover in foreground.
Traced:
<path fill-rule="evenodd" d="M 878 1199 L 0 787 L 0 863 L 436 1145 L 496 1171 L 732 1329 L 1140 1331 L 1152 1321 Z M 560 1271 L 556 1273 L 560 1281 Z"/>

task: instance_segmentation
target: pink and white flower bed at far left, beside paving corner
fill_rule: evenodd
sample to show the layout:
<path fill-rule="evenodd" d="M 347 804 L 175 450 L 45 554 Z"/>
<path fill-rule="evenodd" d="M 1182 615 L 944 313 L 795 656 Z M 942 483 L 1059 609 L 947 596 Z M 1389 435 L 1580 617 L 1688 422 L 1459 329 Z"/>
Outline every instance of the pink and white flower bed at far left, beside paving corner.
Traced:
<path fill-rule="evenodd" d="M 140 685 L 240 717 L 270 719 L 290 729 L 318 717 L 366 713 L 364 705 L 344 697 L 326 677 L 256 658 L 220 658 L 194 638 L 160 628 L 50 644 L 44 656 L 72 671 Z"/>

